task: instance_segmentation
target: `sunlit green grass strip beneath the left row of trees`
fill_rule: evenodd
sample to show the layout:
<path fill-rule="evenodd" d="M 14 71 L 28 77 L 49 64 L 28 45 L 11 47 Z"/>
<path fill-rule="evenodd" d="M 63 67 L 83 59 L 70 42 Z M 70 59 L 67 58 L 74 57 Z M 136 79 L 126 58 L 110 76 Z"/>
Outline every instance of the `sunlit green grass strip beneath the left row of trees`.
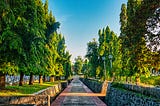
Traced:
<path fill-rule="evenodd" d="M 55 82 L 45 82 L 43 84 L 36 82 L 34 85 L 24 84 L 23 86 L 6 86 L 4 90 L 0 90 L 0 96 L 33 94 L 47 87 L 51 87 L 54 84 Z"/>

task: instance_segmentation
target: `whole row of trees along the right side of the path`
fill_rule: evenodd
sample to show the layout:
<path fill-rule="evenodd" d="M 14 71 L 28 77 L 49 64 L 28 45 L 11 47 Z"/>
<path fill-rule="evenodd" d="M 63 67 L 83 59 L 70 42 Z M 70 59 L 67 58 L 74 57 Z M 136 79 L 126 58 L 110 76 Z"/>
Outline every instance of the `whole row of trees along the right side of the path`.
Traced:
<path fill-rule="evenodd" d="M 101 79 L 106 74 L 118 81 L 126 77 L 127 82 L 134 77 L 138 84 L 142 75 L 160 70 L 160 0 L 128 0 L 121 6 L 120 25 L 120 36 L 109 26 L 98 31 L 98 41 L 87 44 L 87 59 L 75 59 L 76 73 Z"/>

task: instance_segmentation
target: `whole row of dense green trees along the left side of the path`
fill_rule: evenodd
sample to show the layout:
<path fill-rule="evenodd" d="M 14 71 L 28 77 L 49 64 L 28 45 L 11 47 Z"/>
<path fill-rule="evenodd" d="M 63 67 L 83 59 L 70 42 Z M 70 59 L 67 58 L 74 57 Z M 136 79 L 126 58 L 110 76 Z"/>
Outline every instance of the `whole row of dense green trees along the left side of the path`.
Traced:
<path fill-rule="evenodd" d="M 5 86 L 5 75 L 33 75 L 68 77 L 71 62 L 65 39 L 57 32 L 48 0 L 1 0 L 0 2 L 0 87 Z M 51 78 L 52 79 L 52 78 Z"/>

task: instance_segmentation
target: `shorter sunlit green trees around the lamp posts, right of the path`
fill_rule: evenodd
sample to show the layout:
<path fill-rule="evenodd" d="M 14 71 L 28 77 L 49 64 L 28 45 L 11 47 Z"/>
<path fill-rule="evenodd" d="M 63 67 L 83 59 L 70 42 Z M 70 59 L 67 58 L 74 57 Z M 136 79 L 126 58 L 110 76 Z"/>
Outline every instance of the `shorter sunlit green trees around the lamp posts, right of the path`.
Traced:
<path fill-rule="evenodd" d="M 107 70 L 107 77 L 110 78 L 113 74 L 119 74 L 121 65 L 121 54 L 119 49 L 121 47 L 120 39 L 110 30 L 109 26 L 99 30 L 99 42 L 93 40 L 88 43 L 88 50 L 86 57 L 89 60 L 87 73 L 91 77 L 104 77 L 104 70 Z M 99 45 L 98 45 L 99 44 Z M 110 60 L 109 56 L 112 55 Z M 105 57 L 105 60 L 102 58 Z M 104 67 L 105 61 L 105 67 Z M 105 69 L 104 69 L 105 68 Z"/>

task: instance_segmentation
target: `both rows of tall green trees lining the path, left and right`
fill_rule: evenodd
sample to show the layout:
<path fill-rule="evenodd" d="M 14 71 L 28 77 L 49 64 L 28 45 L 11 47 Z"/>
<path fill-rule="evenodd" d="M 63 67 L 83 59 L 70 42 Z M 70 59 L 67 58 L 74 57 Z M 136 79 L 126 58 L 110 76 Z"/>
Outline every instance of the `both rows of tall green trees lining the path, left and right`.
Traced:
<path fill-rule="evenodd" d="M 87 44 L 89 61 L 80 67 L 82 60 L 78 57 L 75 72 L 101 79 L 135 77 L 138 84 L 140 76 L 149 76 L 151 69 L 158 71 L 159 16 L 160 0 L 128 0 L 127 5 L 122 4 L 120 36 L 109 26 L 100 29 L 98 42 L 93 39 Z M 29 84 L 33 84 L 33 75 L 39 75 L 41 83 L 42 76 L 67 78 L 71 74 L 71 55 L 64 37 L 57 32 L 59 26 L 48 10 L 48 0 L 44 4 L 42 0 L 0 2 L 0 87 L 5 85 L 6 74 L 20 75 L 19 85 L 23 85 L 25 74 L 30 75 Z"/>

